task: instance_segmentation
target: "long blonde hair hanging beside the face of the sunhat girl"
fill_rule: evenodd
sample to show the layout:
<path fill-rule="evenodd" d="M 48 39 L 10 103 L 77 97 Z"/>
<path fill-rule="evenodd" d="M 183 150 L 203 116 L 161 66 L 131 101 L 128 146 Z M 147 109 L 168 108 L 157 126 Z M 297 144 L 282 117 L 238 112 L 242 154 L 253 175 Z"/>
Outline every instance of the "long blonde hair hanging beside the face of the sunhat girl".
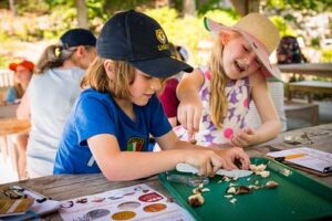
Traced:
<path fill-rule="evenodd" d="M 225 74 L 222 67 L 222 51 L 224 46 L 220 39 L 216 39 L 209 60 L 209 70 L 211 72 L 209 105 L 211 110 L 211 120 L 219 129 L 222 128 L 222 119 L 226 117 L 228 112 L 228 101 L 225 90 L 229 82 L 229 77 Z"/>

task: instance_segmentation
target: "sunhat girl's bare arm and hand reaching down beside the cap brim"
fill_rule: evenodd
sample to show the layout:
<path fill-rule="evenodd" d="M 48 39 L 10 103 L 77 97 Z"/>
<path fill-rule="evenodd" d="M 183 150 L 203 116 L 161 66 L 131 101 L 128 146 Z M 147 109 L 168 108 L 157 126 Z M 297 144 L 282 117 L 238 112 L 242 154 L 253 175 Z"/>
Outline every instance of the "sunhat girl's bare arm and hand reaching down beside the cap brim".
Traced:
<path fill-rule="evenodd" d="M 176 94 L 179 99 L 177 118 L 179 123 L 193 135 L 198 130 L 203 106 L 198 90 L 204 83 L 204 76 L 199 70 L 184 75 L 179 82 Z"/>

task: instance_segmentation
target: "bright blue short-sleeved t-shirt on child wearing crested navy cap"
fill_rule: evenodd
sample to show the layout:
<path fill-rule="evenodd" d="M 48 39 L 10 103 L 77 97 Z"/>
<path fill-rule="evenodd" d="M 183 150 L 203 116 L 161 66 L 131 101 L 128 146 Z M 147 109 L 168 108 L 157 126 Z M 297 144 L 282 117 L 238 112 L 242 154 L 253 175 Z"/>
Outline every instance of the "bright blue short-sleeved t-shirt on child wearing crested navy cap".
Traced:
<path fill-rule="evenodd" d="M 95 135 L 114 135 L 121 151 L 148 151 L 149 134 L 159 137 L 172 130 L 156 96 L 145 106 L 134 105 L 134 112 L 132 120 L 110 94 L 82 92 L 65 123 L 53 173 L 101 172 L 86 143 Z"/>

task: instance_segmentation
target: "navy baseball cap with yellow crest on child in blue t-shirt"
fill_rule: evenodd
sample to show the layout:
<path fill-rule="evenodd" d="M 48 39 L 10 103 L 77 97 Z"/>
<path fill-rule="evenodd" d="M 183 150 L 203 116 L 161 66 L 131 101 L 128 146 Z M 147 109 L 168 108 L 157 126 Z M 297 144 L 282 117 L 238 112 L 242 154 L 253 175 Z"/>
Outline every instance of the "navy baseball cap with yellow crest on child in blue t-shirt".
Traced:
<path fill-rule="evenodd" d="M 167 36 L 160 24 L 134 10 L 112 17 L 96 42 L 100 57 L 126 61 L 154 77 L 169 77 L 193 67 L 172 57 Z"/>

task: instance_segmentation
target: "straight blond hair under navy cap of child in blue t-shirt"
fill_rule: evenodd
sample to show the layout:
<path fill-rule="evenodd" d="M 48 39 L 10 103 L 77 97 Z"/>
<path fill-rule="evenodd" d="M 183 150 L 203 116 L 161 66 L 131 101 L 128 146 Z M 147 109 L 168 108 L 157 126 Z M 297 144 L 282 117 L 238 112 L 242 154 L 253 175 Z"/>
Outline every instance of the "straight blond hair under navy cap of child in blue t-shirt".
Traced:
<path fill-rule="evenodd" d="M 129 85 L 135 80 L 135 67 L 125 61 L 113 61 L 112 72 L 114 72 L 115 78 L 111 81 L 104 67 L 105 61 L 97 56 L 92 62 L 81 82 L 81 87 L 111 93 L 117 98 L 129 98 Z"/>

